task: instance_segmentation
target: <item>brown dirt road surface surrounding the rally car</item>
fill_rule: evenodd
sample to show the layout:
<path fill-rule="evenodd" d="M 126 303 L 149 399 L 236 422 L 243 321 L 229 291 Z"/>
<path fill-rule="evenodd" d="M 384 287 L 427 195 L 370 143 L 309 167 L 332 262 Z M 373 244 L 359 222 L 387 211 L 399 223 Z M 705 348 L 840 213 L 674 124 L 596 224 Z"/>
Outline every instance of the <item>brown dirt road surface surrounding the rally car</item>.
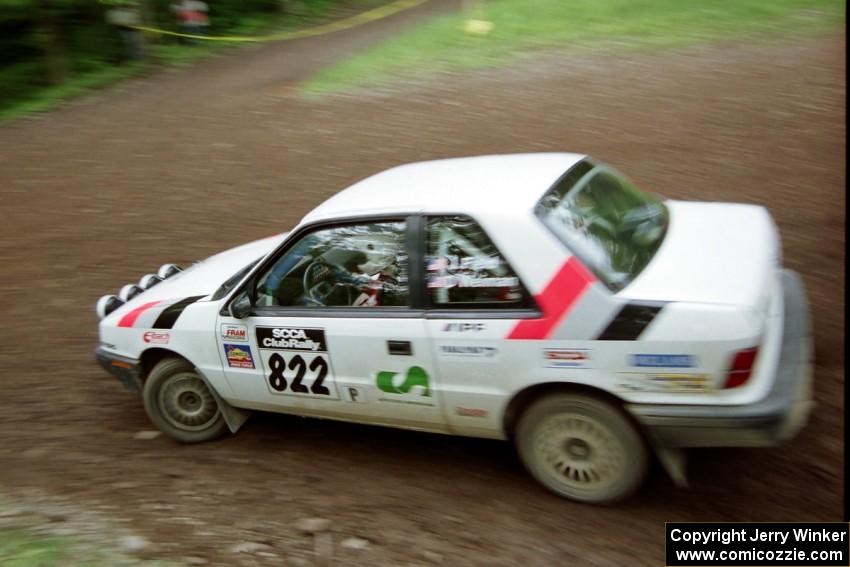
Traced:
<path fill-rule="evenodd" d="M 667 54 L 547 56 L 321 100 L 293 85 L 450 2 L 164 71 L 0 128 L 0 485 L 108 518 L 143 553 L 304 565 L 327 518 L 339 565 L 660 565 L 663 522 L 839 520 L 843 502 L 843 37 Z M 199 446 L 152 429 L 95 364 L 94 301 L 293 226 L 403 162 L 573 150 L 681 199 L 766 205 L 808 286 L 818 408 L 774 450 L 691 454 L 617 507 L 558 499 L 506 443 L 255 416 Z M 710 235 L 706 235 L 707 238 Z M 694 253 L 699 253 L 694 251 Z M 730 274 L 734 277 L 734 274 Z M 346 538 L 368 540 L 365 549 Z M 243 546 L 242 543 L 261 544 Z M 236 553 L 242 551 L 242 553 Z"/>

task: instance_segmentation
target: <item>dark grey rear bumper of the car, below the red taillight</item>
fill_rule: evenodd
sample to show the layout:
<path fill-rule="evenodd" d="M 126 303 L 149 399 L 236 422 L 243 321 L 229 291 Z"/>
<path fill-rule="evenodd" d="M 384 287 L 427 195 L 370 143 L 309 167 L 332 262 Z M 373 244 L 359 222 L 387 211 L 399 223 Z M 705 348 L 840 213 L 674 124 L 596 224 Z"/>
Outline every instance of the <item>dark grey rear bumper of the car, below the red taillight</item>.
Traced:
<path fill-rule="evenodd" d="M 793 437 L 812 406 L 812 337 L 803 283 L 783 270 L 782 348 L 773 387 L 743 406 L 629 404 L 626 408 L 664 447 L 773 446 Z"/>

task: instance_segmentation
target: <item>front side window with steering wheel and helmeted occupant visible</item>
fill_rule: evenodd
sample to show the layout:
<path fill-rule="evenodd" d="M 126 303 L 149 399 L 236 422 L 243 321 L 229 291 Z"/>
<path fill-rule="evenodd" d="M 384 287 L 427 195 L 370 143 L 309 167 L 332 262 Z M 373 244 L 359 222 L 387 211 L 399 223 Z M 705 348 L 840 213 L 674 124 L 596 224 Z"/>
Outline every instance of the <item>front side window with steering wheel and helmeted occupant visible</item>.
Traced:
<path fill-rule="evenodd" d="M 406 307 L 404 222 L 321 228 L 263 274 L 258 306 Z"/>

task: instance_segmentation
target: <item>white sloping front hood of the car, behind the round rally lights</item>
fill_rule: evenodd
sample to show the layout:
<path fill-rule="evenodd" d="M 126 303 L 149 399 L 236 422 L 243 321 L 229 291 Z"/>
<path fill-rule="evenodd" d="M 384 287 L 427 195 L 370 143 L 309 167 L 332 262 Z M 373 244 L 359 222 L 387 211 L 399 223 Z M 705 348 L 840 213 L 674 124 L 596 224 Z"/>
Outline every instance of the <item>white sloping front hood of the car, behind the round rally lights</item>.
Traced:
<path fill-rule="evenodd" d="M 113 313 L 110 317 L 120 317 L 136 307 L 152 302 L 179 300 L 186 297 L 207 296 L 213 293 L 227 278 L 274 250 L 288 233 L 276 234 L 268 238 L 255 240 L 224 252 L 219 252 L 205 260 L 192 264 L 182 272 L 158 283 L 137 295 Z"/>

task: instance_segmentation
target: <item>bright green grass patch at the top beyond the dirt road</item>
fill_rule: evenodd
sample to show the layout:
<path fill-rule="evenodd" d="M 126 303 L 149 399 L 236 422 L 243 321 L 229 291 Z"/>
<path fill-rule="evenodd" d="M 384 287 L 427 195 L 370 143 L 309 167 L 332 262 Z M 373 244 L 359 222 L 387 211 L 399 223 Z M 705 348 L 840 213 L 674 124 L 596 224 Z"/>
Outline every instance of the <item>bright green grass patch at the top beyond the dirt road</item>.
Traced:
<path fill-rule="evenodd" d="M 494 27 L 467 34 L 467 19 Z M 493 67 L 541 49 L 673 48 L 819 33 L 844 21 L 840 0 L 478 0 L 320 71 L 302 88 L 321 94 Z"/>

